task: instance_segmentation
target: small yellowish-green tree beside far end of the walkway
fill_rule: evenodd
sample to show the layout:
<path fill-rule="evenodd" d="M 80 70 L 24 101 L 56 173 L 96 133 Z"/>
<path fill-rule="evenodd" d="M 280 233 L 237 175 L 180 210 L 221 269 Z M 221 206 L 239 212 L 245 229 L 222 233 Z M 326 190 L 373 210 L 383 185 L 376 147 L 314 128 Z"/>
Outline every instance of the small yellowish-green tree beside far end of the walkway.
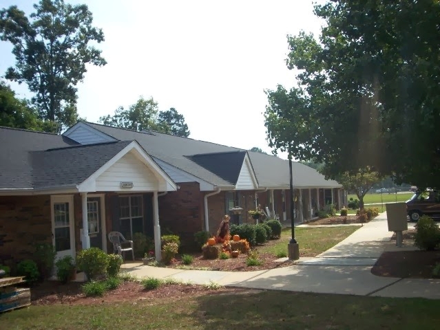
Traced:
<path fill-rule="evenodd" d="M 337 176 L 337 181 L 344 186 L 344 189 L 355 191 L 361 210 L 364 208 L 364 196 L 381 179 L 381 175 L 369 166 L 359 168 L 353 173 L 346 171 Z"/>

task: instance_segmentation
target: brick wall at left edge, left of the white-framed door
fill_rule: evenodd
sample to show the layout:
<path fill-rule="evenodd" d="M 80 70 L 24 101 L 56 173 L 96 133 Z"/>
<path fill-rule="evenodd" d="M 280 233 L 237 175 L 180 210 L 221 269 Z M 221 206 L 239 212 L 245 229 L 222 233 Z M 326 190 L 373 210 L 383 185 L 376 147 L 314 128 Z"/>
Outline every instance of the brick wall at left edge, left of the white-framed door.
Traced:
<path fill-rule="evenodd" d="M 43 242 L 52 243 L 50 196 L 0 197 L 0 263 L 32 259 Z"/>

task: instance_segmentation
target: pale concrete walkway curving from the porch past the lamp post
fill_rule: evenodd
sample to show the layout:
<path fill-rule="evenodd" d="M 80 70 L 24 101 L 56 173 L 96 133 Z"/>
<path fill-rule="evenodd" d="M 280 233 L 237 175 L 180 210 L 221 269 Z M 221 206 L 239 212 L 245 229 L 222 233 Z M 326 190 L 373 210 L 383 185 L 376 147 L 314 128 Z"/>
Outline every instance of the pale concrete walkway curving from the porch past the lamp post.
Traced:
<path fill-rule="evenodd" d="M 137 265 L 127 268 L 127 272 L 139 278 L 171 277 L 196 284 L 213 281 L 220 285 L 253 289 L 440 299 L 440 280 L 371 274 L 371 267 L 382 252 L 415 250 L 405 245 L 397 248 L 395 242 L 390 241 L 391 236 L 386 213 L 382 213 L 330 250 L 313 259 L 300 259 L 297 265 L 289 267 L 256 272 L 218 272 Z M 301 245 L 301 242 L 298 243 Z"/>

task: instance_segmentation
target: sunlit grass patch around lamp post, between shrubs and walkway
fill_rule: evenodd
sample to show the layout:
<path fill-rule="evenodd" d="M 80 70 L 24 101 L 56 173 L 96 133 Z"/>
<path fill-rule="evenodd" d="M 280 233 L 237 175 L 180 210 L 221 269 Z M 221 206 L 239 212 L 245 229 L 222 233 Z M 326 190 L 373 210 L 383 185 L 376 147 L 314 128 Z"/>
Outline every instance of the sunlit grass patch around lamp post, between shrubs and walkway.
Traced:
<path fill-rule="evenodd" d="M 322 252 L 332 248 L 337 243 L 353 234 L 359 226 L 348 225 L 342 227 L 317 227 L 317 228 L 296 228 L 295 239 L 300 244 L 300 256 L 317 256 Z M 291 228 L 284 228 L 281 232 L 281 238 L 275 245 L 266 245 L 258 248 L 259 252 L 277 254 L 278 252 L 287 252 L 287 244 L 291 240 Z M 273 242 L 273 241 L 271 241 Z"/>

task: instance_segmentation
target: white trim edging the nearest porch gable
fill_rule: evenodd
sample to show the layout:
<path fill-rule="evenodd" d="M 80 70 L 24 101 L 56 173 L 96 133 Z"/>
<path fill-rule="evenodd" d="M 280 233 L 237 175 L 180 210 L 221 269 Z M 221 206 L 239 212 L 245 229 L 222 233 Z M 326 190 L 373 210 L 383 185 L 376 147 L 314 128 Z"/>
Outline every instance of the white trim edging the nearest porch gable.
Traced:
<path fill-rule="evenodd" d="M 79 192 L 94 192 L 96 191 L 96 179 L 102 175 L 106 170 L 108 170 L 112 165 L 118 162 L 124 155 L 129 153 L 130 151 L 134 151 L 134 155 L 143 162 L 145 166 L 147 166 L 154 174 L 154 176 L 158 179 L 159 182 L 159 191 L 176 191 L 177 186 L 174 181 L 165 173 L 156 162 L 140 147 L 138 142 L 133 141 L 129 145 L 125 146 L 123 150 L 119 151 L 112 159 L 110 159 L 107 163 L 105 163 L 101 168 L 96 170 L 95 173 L 90 175 L 82 184 L 78 186 Z"/>

